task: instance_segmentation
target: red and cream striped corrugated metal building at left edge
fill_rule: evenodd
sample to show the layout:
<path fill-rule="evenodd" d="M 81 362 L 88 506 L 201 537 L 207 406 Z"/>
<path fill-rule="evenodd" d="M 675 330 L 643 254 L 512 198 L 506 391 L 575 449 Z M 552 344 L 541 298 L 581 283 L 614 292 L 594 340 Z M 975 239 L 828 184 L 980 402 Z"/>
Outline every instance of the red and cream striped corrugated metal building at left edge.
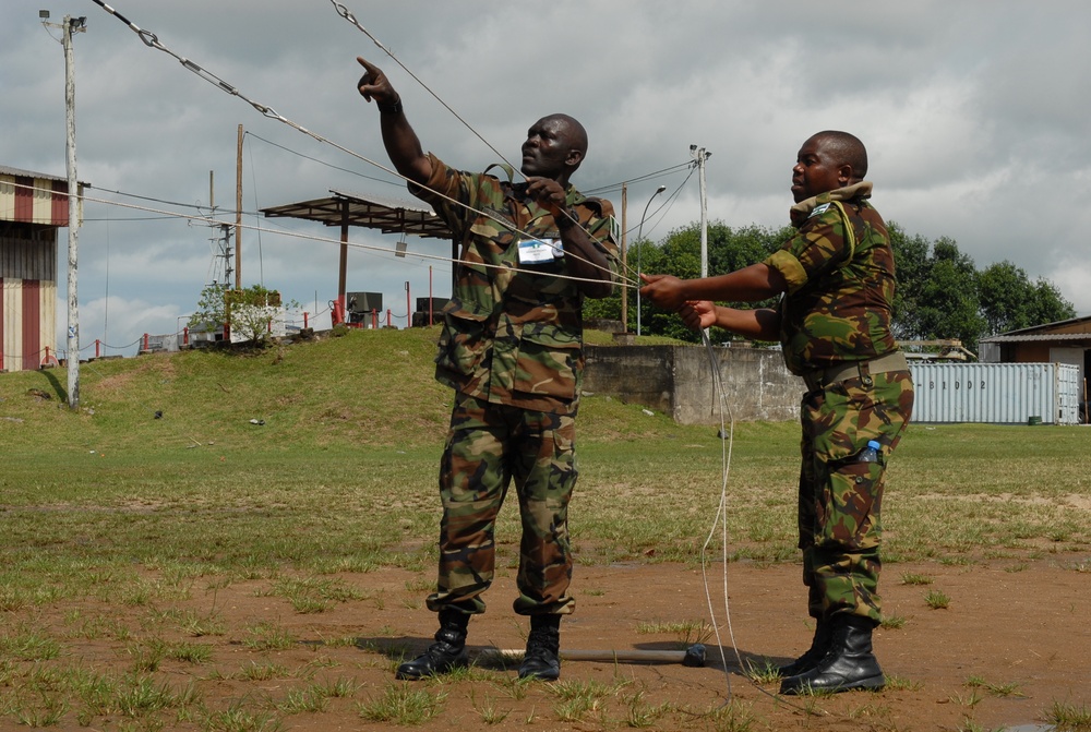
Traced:
<path fill-rule="evenodd" d="M 57 351 L 57 229 L 68 218 L 67 178 L 0 166 L 0 370 L 37 369 Z"/>

